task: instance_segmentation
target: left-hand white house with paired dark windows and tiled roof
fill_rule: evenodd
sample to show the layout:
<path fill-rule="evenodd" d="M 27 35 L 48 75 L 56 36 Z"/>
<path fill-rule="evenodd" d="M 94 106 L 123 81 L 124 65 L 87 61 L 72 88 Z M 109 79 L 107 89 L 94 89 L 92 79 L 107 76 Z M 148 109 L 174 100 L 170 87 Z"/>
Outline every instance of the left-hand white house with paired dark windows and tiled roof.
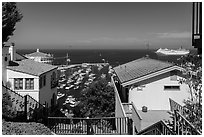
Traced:
<path fill-rule="evenodd" d="M 31 59 L 10 61 L 7 81 L 11 89 L 20 95 L 33 97 L 48 107 L 56 104 L 57 66 L 39 63 Z"/>

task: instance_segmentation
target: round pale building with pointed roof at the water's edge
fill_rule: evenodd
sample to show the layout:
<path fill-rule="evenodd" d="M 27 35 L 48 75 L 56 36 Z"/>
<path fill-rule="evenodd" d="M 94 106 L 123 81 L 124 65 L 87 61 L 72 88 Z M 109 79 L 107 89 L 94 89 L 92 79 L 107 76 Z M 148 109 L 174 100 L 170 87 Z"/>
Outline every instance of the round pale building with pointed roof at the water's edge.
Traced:
<path fill-rule="evenodd" d="M 34 53 L 26 54 L 25 57 L 46 64 L 52 64 L 54 59 L 52 54 L 40 52 L 39 49 L 37 49 L 37 51 Z"/>

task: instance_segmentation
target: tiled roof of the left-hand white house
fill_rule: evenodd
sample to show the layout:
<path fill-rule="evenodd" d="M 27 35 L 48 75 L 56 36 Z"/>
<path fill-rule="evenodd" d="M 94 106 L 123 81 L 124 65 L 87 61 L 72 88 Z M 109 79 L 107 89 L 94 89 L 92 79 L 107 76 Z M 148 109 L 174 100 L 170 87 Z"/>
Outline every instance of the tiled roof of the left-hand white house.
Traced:
<path fill-rule="evenodd" d="M 48 72 L 52 69 L 56 69 L 57 66 L 36 62 L 31 59 L 25 59 L 22 61 L 14 61 L 16 65 L 7 66 L 8 69 L 13 71 L 18 71 L 22 73 L 27 73 L 35 76 L 40 76 L 41 74 Z"/>

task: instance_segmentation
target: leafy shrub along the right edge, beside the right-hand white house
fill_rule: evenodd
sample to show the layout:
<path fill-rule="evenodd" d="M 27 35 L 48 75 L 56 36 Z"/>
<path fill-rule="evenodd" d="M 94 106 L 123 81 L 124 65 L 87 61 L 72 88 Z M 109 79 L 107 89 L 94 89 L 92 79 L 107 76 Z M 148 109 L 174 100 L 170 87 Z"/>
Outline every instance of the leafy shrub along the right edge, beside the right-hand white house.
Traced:
<path fill-rule="evenodd" d="M 184 100 L 186 119 L 191 122 L 196 129 L 202 130 L 202 57 L 199 55 L 188 55 L 180 59 L 181 66 L 185 68 L 183 74 L 185 79 L 180 83 L 185 83 L 189 87 L 190 99 Z"/>

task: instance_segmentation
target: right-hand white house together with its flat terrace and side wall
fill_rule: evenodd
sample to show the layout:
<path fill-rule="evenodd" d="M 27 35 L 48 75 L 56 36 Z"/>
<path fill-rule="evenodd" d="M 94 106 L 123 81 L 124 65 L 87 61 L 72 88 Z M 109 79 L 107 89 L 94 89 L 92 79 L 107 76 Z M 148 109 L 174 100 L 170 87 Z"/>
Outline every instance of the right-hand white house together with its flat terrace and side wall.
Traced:
<path fill-rule="evenodd" d="M 144 57 L 113 69 L 116 117 L 132 118 L 137 131 L 171 120 L 169 98 L 183 104 L 190 97 L 188 86 L 179 83 L 183 68 L 173 63 Z"/>

